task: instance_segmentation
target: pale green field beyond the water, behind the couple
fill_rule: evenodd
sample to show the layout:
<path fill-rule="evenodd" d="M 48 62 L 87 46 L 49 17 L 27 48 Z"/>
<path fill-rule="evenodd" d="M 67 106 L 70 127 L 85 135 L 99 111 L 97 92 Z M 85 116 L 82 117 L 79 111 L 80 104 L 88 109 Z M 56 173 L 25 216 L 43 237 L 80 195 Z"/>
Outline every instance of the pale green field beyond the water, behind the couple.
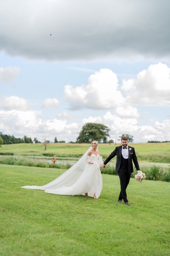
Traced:
<path fill-rule="evenodd" d="M 120 144 L 99 144 L 99 152 L 103 158 L 107 157 Z M 170 163 L 170 143 L 129 143 L 135 147 L 136 155 L 139 161 Z M 43 154 L 57 157 L 81 157 L 82 154 L 90 147 L 89 144 L 72 144 L 72 143 L 53 143 L 47 145 L 44 150 L 43 143 L 37 144 L 11 144 L 2 145 L 1 152 L 11 152 L 15 155 L 34 155 L 42 156 Z"/>

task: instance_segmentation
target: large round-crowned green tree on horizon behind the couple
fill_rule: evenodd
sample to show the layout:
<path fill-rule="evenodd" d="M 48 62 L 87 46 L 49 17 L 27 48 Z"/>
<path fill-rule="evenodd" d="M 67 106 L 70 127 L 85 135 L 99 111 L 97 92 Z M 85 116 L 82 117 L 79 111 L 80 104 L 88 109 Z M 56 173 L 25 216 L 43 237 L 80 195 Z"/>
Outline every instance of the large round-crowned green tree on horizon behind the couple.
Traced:
<path fill-rule="evenodd" d="M 87 123 L 83 125 L 82 130 L 77 137 L 77 143 L 91 143 L 93 140 L 97 142 L 107 143 L 107 138 L 110 137 L 108 126 L 96 123 Z"/>

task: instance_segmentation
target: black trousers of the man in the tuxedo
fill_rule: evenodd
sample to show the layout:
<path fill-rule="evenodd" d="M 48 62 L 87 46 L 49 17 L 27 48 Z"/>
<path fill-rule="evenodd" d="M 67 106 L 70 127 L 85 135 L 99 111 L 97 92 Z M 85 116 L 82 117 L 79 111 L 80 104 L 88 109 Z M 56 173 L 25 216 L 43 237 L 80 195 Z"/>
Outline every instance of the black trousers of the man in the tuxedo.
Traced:
<path fill-rule="evenodd" d="M 129 184 L 130 174 L 127 170 L 124 170 L 124 169 L 120 169 L 118 174 L 119 174 L 120 188 L 121 188 L 120 194 L 119 194 L 119 200 L 123 199 L 124 202 L 128 202 L 126 189 L 127 189 L 127 185 Z"/>

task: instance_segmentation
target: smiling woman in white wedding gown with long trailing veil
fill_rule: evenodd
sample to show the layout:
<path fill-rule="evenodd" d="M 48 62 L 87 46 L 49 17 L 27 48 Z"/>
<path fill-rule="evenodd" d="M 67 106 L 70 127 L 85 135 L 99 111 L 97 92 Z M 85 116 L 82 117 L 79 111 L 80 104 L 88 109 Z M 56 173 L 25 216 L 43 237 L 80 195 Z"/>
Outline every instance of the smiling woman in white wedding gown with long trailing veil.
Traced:
<path fill-rule="evenodd" d="M 103 163 L 96 140 L 85 154 L 66 172 L 44 186 L 23 186 L 23 189 L 39 189 L 56 195 L 85 195 L 98 199 L 102 191 Z"/>

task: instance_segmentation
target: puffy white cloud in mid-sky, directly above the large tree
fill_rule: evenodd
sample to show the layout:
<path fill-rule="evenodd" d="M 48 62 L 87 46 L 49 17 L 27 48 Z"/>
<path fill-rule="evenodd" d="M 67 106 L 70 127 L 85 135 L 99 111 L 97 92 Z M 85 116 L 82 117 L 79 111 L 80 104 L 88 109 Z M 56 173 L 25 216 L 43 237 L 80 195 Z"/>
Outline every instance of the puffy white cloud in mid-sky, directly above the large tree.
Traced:
<path fill-rule="evenodd" d="M 88 79 L 87 85 L 65 86 L 64 99 L 71 109 L 108 109 L 122 105 L 124 98 L 118 90 L 118 79 L 109 69 L 101 69 Z"/>

